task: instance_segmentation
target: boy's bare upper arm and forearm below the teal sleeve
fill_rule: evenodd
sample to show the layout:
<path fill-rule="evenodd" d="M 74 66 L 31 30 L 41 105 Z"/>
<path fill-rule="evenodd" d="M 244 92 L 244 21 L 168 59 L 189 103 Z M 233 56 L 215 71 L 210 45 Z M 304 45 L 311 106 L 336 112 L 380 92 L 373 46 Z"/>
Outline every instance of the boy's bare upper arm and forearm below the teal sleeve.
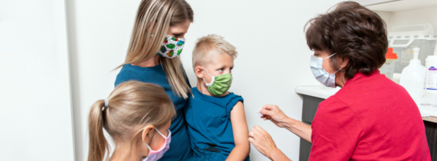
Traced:
<path fill-rule="evenodd" d="M 249 129 L 247 128 L 246 115 L 241 101 L 231 110 L 231 124 L 235 147 L 226 160 L 245 160 L 250 152 L 250 143 L 247 139 Z"/>

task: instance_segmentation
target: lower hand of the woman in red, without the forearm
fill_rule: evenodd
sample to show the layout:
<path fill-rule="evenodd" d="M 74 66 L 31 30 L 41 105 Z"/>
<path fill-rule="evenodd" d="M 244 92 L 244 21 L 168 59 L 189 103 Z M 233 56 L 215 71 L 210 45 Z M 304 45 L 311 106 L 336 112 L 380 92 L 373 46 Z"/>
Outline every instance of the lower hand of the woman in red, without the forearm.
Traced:
<path fill-rule="evenodd" d="M 249 141 L 264 156 L 272 159 L 272 151 L 277 150 L 275 142 L 267 131 L 260 126 L 253 127 L 249 132 Z"/>

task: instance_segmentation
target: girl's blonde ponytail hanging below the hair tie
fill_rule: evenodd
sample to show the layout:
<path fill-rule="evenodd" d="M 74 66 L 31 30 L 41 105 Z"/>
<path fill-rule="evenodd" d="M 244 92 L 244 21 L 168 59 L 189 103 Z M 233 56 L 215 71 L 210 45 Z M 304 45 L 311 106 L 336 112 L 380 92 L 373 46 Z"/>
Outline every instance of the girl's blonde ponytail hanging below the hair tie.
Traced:
<path fill-rule="evenodd" d="M 88 161 L 102 161 L 104 154 L 107 151 L 109 156 L 109 145 L 103 135 L 103 112 L 104 100 L 96 101 L 89 111 L 88 130 L 89 130 L 89 150 Z"/>

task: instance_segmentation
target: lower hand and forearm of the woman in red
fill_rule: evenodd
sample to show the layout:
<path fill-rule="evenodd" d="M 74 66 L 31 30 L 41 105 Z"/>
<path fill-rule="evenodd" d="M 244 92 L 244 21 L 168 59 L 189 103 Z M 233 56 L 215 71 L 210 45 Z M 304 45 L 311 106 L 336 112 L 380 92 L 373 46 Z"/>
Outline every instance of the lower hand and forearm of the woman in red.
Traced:
<path fill-rule="evenodd" d="M 270 134 L 259 126 L 255 126 L 250 130 L 249 141 L 259 152 L 267 156 L 270 160 L 290 160 L 276 147 Z"/>

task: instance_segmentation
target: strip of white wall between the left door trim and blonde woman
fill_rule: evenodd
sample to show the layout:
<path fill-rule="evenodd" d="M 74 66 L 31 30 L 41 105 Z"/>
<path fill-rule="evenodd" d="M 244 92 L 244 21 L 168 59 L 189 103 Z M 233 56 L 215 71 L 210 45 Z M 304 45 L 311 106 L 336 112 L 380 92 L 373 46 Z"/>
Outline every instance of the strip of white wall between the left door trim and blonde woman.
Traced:
<path fill-rule="evenodd" d="M 67 0 L 76 160 L 87 160 L 89 109 L 114 89 L 139 2 Z"/>

